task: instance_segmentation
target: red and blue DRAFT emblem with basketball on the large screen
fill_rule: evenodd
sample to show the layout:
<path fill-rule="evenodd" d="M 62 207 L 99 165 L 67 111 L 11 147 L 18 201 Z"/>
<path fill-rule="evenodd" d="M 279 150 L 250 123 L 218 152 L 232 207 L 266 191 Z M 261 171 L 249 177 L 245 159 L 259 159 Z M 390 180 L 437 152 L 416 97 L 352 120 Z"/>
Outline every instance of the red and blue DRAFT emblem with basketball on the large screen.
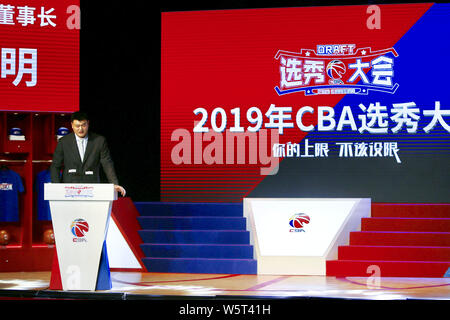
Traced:
<path fill-rule="evenodd" d="M 372 50 L 354 44 L 317 45 L 300 52 L 278 50 L 280 80 L 278 95 L 301 92 L 317 94 L 359 94 L 370 91 L 395 93 L 394 48 Z"/>

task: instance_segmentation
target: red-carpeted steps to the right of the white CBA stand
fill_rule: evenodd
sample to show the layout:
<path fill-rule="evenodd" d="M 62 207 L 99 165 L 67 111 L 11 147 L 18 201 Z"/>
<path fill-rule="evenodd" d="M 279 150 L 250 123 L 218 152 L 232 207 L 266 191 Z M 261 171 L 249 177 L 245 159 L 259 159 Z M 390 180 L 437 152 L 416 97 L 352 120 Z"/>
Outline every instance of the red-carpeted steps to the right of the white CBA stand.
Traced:
<path fill-rule="evenodd" d="M 450 267 L 450 204 L 373 203 L 361 231 L 327 261 L 327 275 L 441 278 Z"/>

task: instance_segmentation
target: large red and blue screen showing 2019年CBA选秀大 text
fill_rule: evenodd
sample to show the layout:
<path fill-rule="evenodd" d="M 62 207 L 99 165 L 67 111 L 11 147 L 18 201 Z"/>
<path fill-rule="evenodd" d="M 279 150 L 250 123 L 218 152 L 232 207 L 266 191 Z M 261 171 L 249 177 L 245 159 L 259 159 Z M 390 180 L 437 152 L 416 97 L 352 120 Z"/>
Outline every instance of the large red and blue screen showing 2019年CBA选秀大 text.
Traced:
<path fill-rule="evenodd" d="M 162 13 L 161 200 L 448 202 L 450 5 Z"/>

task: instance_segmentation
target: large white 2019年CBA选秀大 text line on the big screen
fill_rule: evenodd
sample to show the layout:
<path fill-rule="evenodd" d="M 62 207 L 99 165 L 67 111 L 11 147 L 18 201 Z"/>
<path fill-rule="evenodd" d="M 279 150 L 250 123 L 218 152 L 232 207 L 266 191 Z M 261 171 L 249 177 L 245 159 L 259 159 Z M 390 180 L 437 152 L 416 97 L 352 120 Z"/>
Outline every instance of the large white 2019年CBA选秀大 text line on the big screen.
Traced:
<path fill-rule="evenodd" d="M 330 106 L 318 106 L 317 108 L 303 106 L 295 111 L 292 107 L 280 107 L 271 104 L 266 113 L 263 113 L 258 107 L 251 107 L 246 112 L 241 112 L 240 108 L 234 108 L 230 111 L 232 117 L 227 115 L 225 109 L 220 107 L 211 112 L 211 117 L 209 117 L 208 110 L 205 108 L 197 108 L 194 110 L 194 114 L 201 114 L 202 118 L 196 122 L 193 131 L 209 132 L 207 121 L 210 119 L 211 127 L 215 132 L 223 132 L 227 125 L 231 124 L 230 130 L 232 132 L 244 132 L 245 130 L 258 132 L 262 127 L 265 127 L 277 129 L 281 135 L 284 134 L 285 129 L 291 129 L 295 126 L 302 132 L 350 129 L 351 131 L 359 131 L 361 134 L 366 132 L 370 134 L 397 134 L 405 129 L 407 133 L 415 134 L 419 130 L 419 121 L 423 116 L 423 121 L 431 117 L 429 123 L 423 127 L 424 132 L 429 133 L 438 125 L 450 132 L 450 125 L 447 124 L 445 119 L 445 117 L 450 116 L 450 109 L 441 108 L 440 101 L 435 101 L 434 110 L 419 107 L 414 101 L 393 103 L 390 109 L 380 102 L 369 103 L 368 106 L 360 103 L 358 107 L 360 111 L 355 116 L 354 110 L 358 111 L 358 108 L 352 108 L 351 106 L 343 106 L 341 114 L 336 115 L 335 109 Z M 241 119 L 242 113 L 246 114 L 246 121 L 253 126 L 244 128 L 241 125 L 244 122 Z M 263 115 L 266 116 L 266 122 L 264 122 Z M 317 119 L 317 122 L 312 123 L 311 120 L 305 120 L 304 118 L 307 116 Z M 359 120 L 359 126 L 357 120 Z"/>

